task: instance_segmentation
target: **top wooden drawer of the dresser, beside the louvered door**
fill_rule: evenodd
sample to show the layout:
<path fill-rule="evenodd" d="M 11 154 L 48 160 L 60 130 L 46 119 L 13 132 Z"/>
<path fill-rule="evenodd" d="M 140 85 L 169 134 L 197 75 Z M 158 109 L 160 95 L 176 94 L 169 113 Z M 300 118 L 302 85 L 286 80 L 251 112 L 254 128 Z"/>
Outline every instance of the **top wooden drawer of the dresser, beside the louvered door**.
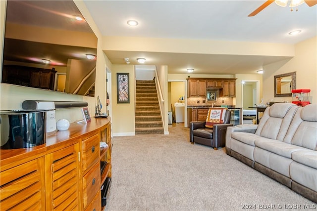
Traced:
<path fill-rule="evenodd" d="M 99 142 L 99 134 L 95 134 L 82 142 L 82 172 L 84 174 L 86 173 L 86 170 L 89 170 L 99 159 Z"/>

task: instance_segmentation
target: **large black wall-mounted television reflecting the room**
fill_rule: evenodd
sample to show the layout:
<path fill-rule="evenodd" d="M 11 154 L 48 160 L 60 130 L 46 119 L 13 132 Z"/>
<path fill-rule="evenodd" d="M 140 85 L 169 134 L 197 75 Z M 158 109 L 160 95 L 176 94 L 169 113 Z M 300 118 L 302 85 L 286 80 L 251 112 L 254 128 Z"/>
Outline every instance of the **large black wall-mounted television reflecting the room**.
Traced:
<path fill-rule="evenodd" d="M 72 0 L 8 0 L 1 83 L 94 96 L 97 41 Z"/>

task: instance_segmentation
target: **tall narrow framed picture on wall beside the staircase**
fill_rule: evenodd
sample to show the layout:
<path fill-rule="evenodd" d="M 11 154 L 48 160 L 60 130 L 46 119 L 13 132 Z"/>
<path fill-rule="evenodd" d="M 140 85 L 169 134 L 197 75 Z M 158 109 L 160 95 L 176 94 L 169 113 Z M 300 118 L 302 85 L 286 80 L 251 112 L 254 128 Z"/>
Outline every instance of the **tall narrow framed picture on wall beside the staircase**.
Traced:
<path fill-rule="evenodd" d="M 117 73 L 117 103 L 130 103 L 129 73 Z"/>

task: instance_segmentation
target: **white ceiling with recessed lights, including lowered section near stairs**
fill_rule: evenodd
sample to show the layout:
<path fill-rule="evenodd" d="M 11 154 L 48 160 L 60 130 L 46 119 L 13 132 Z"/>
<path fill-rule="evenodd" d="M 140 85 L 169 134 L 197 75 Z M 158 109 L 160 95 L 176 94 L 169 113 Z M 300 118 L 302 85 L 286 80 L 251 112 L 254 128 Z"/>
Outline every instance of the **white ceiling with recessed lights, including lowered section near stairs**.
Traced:
<path fill-rule="evenodd" d="M 254 17 L 248 17 L 265 0 L 84 0 L 103 36 L 201 39 L 213 41 L 246 41 L 297 43 L 317 35 L 317 5 L 306 3 L 298 11 L 267 6 Z M 136 27 L 126 22 L 134 19 Z M 292 30 L 302 30 L 289 36 Z M 196 74 L 256 73 L 263 65 L 285 57 L 220 56 L 214 54 L 182 54 L 105 50 L 112 64 L 131 63 L 143 57 L 155 57 L 146 65 L 168 65 L 168 73 L 184 73 L 192 66 Z M 186 61 L 186 62 L 184 62 Z M 187 63 L 187 64 L 184 64 Z"/>

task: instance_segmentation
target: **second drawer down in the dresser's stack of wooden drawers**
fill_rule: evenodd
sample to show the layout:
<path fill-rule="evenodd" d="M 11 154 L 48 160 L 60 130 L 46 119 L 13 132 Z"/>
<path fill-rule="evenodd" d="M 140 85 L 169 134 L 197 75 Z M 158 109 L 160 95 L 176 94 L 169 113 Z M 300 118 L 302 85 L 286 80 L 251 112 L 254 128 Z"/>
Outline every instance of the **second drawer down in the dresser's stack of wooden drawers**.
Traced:
<path fill-rule="evenodd" d="M 99 162 L 93 167 L 93 169 L 91 169 L 83 177 L 84 208 L 93 200 L 97 192 L 100 192 L 100 163 Z"/>

